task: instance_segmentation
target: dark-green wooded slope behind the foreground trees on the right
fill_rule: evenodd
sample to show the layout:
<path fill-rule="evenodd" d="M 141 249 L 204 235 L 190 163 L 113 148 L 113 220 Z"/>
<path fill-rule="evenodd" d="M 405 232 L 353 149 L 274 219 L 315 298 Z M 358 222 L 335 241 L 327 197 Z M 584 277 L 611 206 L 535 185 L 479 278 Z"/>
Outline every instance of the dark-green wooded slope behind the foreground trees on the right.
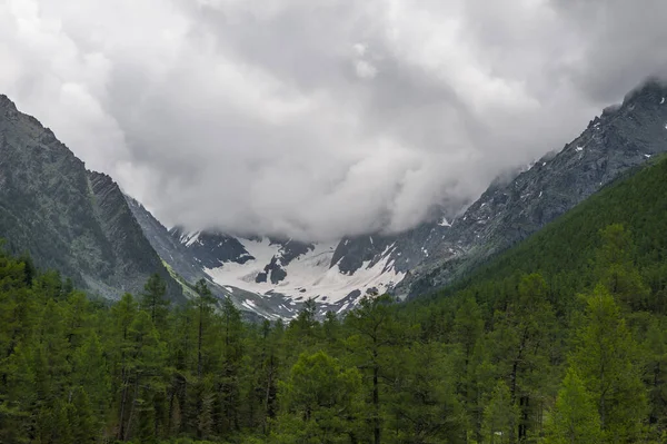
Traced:
<path fill-rule="evenodd" d="M 600 230 L 620 224 L 634 244 L 627 253 L 656 297 L 645 303 L 667 313 L 665 178 L 667 155 L 661 155 L 645 167 L 627 171 L 619 180 L 434 296 L 460 290 L 476 295 L 494 293 L 507 279 L 515 282 L 519 275 L 540 273 L 551 283 L 550 292 L 559 295 L 555 300 L 565 304 L 558 299 L 573 299 L 596 282 L 594 264 L 599 259 L 596 251 L 603 241 Z"/>

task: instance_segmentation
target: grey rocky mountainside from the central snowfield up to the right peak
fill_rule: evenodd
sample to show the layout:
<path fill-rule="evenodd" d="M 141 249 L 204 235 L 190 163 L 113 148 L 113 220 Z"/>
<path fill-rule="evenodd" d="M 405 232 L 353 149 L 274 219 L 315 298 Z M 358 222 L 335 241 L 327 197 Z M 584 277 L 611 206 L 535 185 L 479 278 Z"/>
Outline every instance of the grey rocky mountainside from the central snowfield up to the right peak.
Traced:
<path fill-rule="evenodd" d="M 280 316 L 296 313 L 308 297 L 322 310 L 339 312 L 366 294 L 418 295 L 526 238 L 624 171 L 666 151 L 666 97 L 665 86 L 648 81 L 591 120 L 559 152 L 494 182 L 464 214 L 442 214 L 402 234 L 320 245 L 177 228 L 151 243 L 183 276 L 203 273 L 223 288 L 256 295 L 257 300 L 241 300 L 247 308 L 261 300 Z"/>

